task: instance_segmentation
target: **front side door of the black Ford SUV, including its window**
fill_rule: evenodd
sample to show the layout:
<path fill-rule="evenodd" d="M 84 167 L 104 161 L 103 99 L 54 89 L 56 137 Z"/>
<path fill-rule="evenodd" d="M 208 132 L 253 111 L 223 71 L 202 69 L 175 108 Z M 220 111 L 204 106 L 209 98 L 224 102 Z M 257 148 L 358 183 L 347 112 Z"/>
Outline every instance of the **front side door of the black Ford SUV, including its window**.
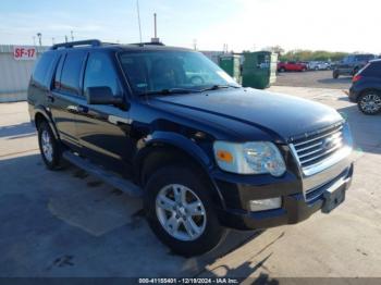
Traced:
<path fill-rule="evenodd" d="M 90 51 L 84 74 L 83 90 L 76 113 L 76 133 L 82 153 L 98 164 L 122 174 L 131 173 L 132 141 L 128 111 L 111 104 L 88 104 L 88 87 L 110 87 L 124 97 L 114 54 Z"/>

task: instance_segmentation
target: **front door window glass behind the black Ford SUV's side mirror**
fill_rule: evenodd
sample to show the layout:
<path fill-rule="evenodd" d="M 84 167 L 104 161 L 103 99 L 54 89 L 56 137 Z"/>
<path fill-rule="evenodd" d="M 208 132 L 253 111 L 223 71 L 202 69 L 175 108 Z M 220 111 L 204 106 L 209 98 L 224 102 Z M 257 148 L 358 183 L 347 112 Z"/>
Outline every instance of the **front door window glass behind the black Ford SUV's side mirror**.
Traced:
<path fill-rule="evenodd" d="M 108 86 L 113 95 L 120 95 L 121 88 L 113 62 L 107 53 L 90 53 L 84 82 L 84 90 L 87 87 Z"/>

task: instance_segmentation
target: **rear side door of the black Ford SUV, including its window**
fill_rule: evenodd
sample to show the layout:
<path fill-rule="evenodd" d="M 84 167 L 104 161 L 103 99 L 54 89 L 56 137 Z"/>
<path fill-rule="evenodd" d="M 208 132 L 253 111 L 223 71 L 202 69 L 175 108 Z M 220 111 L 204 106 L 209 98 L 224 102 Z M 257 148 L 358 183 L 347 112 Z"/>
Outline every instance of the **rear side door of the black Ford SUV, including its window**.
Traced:
<path fill-rule="evenodd" d="M 79 82 L 84 67 L 86 51 L 72 50 L 62 53 L 57 66 L 54 83 L 49 104 L 52 119 L 61 140 L 77 150 L 79 148 L 74 114 L 81 95 Z"/>

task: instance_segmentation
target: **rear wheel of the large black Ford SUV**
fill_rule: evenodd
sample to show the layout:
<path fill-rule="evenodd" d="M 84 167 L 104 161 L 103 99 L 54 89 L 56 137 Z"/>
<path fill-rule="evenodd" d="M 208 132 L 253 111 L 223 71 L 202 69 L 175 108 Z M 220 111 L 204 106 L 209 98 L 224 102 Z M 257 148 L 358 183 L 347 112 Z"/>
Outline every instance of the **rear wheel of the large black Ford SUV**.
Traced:
<path fill-rule="evenodd" d="M 61 162 L 60 146 L 47 122 L 41 122 L 38 125 L 38 145 L 47 168 L 58 169 Z"/>

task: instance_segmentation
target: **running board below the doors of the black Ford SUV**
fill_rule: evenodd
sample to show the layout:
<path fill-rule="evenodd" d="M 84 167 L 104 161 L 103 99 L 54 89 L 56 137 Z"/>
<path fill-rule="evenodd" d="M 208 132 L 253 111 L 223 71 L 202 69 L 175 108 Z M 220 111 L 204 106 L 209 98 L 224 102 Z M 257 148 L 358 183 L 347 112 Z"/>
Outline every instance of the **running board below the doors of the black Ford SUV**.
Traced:
<path fill-rule="evenodd" d="M 101 166 L 91 163 L 90 161 L 83 159 L 71 151 L 64 151 L 62 157 L 76 165 L 77 168 L 88 172 L 89 174 L 100 178 L 105 183 L 131 195 L 134 197 L 140 197 L 143 195 L 143 190 L 133 184 L 132 182 L 122 178 L 118 174 L 103 170 Z"/>

